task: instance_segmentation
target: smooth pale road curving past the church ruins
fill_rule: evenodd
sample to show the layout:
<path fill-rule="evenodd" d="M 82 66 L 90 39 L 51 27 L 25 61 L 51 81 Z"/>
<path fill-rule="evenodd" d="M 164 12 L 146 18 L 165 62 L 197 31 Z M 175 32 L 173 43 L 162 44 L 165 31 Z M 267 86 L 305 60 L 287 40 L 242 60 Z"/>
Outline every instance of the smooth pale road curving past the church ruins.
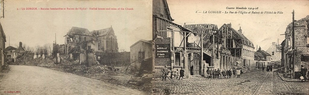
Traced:
<path fill-rule="evenodd" d="M 23 95 L 113 95 L 143 94 L 143 92 L 116 86 L 48 68 L 11 65 L 11 71 L 0 79 L 0 94 Z M 14 92 L 15 93 L 12 93 Z"/>

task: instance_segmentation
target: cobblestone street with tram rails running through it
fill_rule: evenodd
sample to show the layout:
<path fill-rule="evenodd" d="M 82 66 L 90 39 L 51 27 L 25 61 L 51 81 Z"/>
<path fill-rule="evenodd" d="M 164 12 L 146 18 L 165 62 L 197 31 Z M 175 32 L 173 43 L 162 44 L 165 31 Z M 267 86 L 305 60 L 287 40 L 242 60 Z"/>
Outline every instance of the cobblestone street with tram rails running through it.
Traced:
<path fill-rule="evenodd" d="M 309 82 L 282 81 L 277 72 L 254 71 L 244 73 L 240 78 L 231 79 L 184 79 L 152 81 L 154 89 L 159 91 L 154 95 L 164 95 L 165 88 L 171 94 L 204 94 L 204 95 L 308 95 Z M 265 78 L 265 76 L 267 77 Z M 263 79 L 265 80 L 263 81 Z M 260 83 L 259 90 L 256 91 Z M 274 85 L 273 85 L 274 84 Z"/>

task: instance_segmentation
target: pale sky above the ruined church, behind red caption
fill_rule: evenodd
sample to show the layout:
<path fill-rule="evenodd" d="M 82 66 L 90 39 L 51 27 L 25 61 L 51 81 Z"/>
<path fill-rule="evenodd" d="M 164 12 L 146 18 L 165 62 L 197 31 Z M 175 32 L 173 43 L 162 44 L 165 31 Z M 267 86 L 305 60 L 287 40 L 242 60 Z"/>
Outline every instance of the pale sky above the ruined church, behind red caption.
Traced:
<path fill-rule="evenodd" d="M 5 1 L 5 18 L 1 24 L 6 47 L 23 42 L 28 46 L 64 44 L 63 37 L 72 27 L 89 31 L 113 27 L 118 47 L 130 51 L 140 39 L 152 39 L 152 2 L 133 0 L 112 1 Z M 133 8 L 134 10 L 17 10 L 17 8 Z"/>

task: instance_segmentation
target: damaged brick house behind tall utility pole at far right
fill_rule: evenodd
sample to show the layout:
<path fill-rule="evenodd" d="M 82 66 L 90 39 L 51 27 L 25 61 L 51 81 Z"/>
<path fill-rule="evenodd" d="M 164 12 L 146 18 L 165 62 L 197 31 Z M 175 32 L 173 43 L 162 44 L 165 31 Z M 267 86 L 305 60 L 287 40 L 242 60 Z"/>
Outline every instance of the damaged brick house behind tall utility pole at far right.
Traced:
<path fill-rule="evenodd" d="M 301 65 L 308 68 L 309 64 L 309 16 L 294 20 L 286 27 L 285 40 L 281 43 L 282 67 L 292 74 L 292 79 L 299 78 Z M 294 37 L 293 37 L 294 29 Z M 293 41 L 294 39 L 294 41 Z M 294 54 L 293 54 L 294 53 Z M 293 57 L 294 55 L 294 57 Z"/>

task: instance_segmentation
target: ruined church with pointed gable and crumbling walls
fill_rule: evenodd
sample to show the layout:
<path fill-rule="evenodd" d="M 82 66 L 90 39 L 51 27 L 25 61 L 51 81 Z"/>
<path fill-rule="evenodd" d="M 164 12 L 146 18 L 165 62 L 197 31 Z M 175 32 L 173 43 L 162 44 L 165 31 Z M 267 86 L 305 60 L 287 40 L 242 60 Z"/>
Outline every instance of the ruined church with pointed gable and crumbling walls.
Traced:
<path fill-rule="evenodd" d="M 89 31 L 72 27 L 65 36 L 64 52 L 72 60 L 92 66 L 98 61 L 103 65 L 126 65 L 130 62 L 130 52 L 118 52 L 117 37 L 111 27 Z"/>

